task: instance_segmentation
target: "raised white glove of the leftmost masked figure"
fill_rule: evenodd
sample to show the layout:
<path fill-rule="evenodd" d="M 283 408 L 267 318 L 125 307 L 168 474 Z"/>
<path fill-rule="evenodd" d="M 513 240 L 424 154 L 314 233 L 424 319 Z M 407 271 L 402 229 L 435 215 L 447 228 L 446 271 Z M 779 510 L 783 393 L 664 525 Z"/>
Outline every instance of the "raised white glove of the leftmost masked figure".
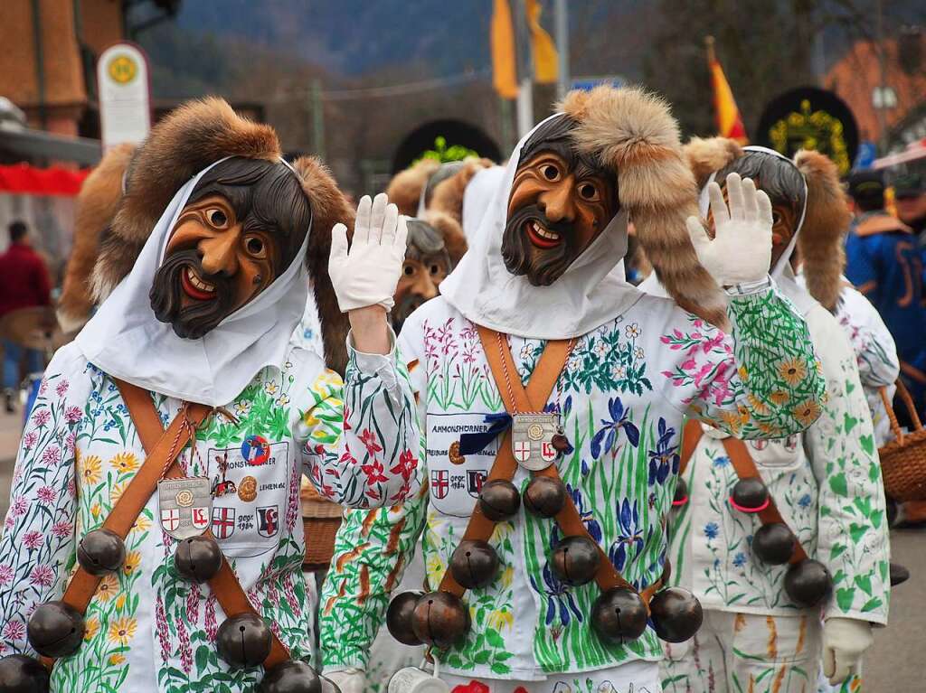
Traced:
<path fill-rule="evenodd" d="M 360 198 L 349 252 L 347 227 L 334 226 L 328 273 L 342 313 L 368 305 L 392 310 L 407 236 L 406 217 L 399 217 L 398 208 L 389 204 L 384 192 L 372 202 L 369 195 Z"/>

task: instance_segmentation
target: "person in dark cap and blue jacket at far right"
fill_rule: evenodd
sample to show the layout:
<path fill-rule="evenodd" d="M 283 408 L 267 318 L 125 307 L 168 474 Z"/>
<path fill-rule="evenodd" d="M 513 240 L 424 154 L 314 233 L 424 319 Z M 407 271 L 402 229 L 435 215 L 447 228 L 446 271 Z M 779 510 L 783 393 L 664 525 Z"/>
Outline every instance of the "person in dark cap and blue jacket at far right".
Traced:
<path fill-rule="evenodd" d="M 884 210 L 884 179 L 878 171 L 849 178 L 857 217 L 845 241 L 845 276 L 881 314 L 891 330 L 907 388 L 923 412 L 926 402 L 926 306 L 923 252 L 913 229 Z M 901 418 L 903 406 L 895 407 Z"/>

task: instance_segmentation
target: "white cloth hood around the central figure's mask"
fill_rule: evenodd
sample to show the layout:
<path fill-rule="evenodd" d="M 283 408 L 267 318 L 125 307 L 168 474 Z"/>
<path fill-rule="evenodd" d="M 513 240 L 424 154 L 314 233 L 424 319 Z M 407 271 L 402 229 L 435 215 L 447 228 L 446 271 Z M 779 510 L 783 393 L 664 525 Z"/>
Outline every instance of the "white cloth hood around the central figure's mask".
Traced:
<path fill-rule="evenodd" d="M 624 279 L 620 262 L 627 252 L 626 210 L 621 210 L 550 286 L 535 287 L 527 278 L 508 272 L 502 259 L 508 197 L 521 147 L 534 130 L 508 159 L 469 250 L 441 283 L 441 294 L 478 325 L 519 337 L 563 340 L 579 337 L 620 316 L 643 294 Z"/>

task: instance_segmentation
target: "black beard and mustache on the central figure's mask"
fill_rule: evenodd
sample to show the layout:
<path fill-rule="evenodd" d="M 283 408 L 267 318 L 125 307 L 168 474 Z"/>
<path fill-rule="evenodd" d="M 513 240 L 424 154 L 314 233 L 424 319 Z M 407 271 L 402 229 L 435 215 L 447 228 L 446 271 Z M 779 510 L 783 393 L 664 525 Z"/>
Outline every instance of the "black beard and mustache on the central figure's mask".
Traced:
<path fill-rule="evenodd" d="M 554 248 L 538 248 L 528 238 L 524 224 L 537 221 L 544 229 L 556 231 L 562 241 Z M 508 218 L 502 236 L 502 258 L 513 275 L 524 275 L 534 286 L 549 286 L 582 253 L 575 247 L 576 237 L 569 223 L 553 223 L 536 204 L 516 209 Z"/>

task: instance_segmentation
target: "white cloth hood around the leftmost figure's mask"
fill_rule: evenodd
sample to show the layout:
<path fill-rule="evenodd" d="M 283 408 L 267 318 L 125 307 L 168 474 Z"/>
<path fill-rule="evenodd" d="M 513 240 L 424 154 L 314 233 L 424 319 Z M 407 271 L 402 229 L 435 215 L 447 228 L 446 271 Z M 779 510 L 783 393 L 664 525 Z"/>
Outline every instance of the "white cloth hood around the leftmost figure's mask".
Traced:
<path fill-rule="evenodd" d="M 233 402 L 262 368 L 282 366 L 286 358 L 306 307 L 308 233 L 293 263 L 257 298 L 201 339 L 178 337 L 155 317 L 148 292 L 177 217 L 212 166 L 173 196 L 129 275 L 75 341 L 87 360 L 110 376 L 188 402 L 222 406 Z"/>

